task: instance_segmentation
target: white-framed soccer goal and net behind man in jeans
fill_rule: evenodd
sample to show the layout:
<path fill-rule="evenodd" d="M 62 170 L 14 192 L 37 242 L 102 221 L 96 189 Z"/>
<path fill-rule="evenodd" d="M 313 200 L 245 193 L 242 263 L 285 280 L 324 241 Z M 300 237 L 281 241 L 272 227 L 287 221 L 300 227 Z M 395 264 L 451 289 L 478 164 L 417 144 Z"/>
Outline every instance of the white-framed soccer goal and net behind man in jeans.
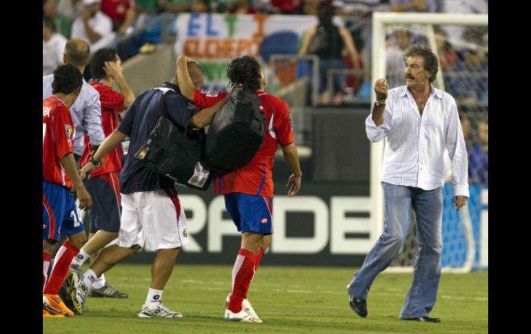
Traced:
<path fill-rule="evenodd" d="M 438 55 L 439 73 L 434 86 L 456 99 L 469 154 L 474 145 L 484 142 L 485 126 L 488 145 L 488 14 L 374 13 L 372 81 L 385 77 L 390 88 L 404 85 L 402 56 L 413 44 L 428 45 Z M 372 214 L 376 221 L 383 222 L 380 185 L 383 142 L 371 145 Z M 488 165 L 486 168 L 481 164 L 474 166 L 474 171 L 470 171 L 470 185 L 488 185 Z M 476 266 L 479 245 L 474 240 L 469 206 L 456 211 L 452 198 L 452 186 L 445 185 L 443 271 L 468 272 Z M 380 232 L 383 231 L 383 225 L 379 228 Z M 412 270 L 417 252 L 416 231 L 417 225 L 413 221 L 408 238 L 389 271 Z"/>

